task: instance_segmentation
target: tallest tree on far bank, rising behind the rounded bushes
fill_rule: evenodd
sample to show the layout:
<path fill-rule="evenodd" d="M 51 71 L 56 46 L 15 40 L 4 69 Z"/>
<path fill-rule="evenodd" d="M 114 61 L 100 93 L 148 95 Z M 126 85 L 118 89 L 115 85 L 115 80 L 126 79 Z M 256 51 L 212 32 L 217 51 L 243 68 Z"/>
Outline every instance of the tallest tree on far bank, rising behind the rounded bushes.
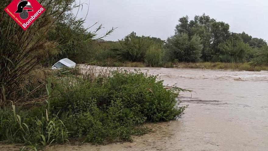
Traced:
<path fill-rule="evenodd" d="M 211 55 L 218 51 L 217 46 L 226 41 L 230 36 L 229 25 L 224 22 L 217 22 L 205 13 L 195 16 L 194 20 L 189 21 L 188 16 L 179 19 L 175 34 L 187 33 L 189 38 L 198 35 L 203 45 L 202 59 L 210 61 Z"/>

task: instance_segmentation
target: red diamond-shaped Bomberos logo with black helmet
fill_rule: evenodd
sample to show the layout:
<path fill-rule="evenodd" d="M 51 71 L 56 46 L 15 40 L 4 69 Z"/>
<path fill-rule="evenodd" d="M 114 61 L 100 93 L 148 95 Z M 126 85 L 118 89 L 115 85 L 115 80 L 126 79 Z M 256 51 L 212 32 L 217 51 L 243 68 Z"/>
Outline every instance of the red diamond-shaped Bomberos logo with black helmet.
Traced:
<path fill-rule="evenodd" d="M 26 30 L 45 9 L 36 0 L 13 0 L 5 12 L 15 20 L 23 30 Z"/>

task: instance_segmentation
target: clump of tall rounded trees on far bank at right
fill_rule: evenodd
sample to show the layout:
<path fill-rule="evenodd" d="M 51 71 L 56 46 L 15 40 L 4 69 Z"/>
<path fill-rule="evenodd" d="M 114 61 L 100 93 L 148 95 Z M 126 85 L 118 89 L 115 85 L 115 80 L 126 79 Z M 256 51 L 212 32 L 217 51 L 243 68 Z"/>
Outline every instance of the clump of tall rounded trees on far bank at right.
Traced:
<path fill-rule="evenodd" d="M 166 44 L 173 56 L 170 59 L 185 62 L 251 62 L 257 53 L 267 50 L 265 40 L 245 32 L 231 32 L 229 24 L 206 14 L 195 16 L 194 20 L 188 16 L 180 18 L 175 35 Z"/>

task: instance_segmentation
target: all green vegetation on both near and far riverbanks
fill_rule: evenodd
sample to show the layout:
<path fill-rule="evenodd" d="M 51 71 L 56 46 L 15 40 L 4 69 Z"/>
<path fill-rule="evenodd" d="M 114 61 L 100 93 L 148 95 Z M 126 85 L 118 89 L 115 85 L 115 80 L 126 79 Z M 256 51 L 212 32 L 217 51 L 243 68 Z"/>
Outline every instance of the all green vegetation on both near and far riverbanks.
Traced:
<path fill-rule="evenodd" d="M 143 124 L 174 120 L 185 110 L 176 86 L 140 71 L 90 66 L 51 71 L 59 59 L 101 66 L 267 70 L 268 46 L 209 16 L 179 19 L 166 41 L 135 32 L 103 41 L 72 14 L 75 0 L 42 0 L 44 14 L 23 31 L 0 2 L 0 141 L 39 150 L 70 141 L 106 144 L 132 141 L 150 131 Z M 206 61 L 206 62 L 205 62 Z M 203 63 L 205 62 L 205 63 Z M 213 62 L 213 63 L 211 63 Z M 217 63 L 220 62 L 220 63 Z M 226 66 L 223 66 L 225 64 Z M 182 66 L 179 66 L 182 67 Z M 183 66 L 184 67 L 184 66 Z"/>

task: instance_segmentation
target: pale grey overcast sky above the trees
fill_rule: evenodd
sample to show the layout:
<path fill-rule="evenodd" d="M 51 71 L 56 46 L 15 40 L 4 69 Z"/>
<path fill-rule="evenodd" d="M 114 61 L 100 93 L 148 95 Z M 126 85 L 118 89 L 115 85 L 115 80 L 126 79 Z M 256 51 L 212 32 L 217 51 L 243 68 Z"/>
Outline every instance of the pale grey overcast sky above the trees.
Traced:
<path fill-rule="evenodd" d="M 78 17 L 86 16 L 86 7 Z M 99 34 L 118 27 L 105 40 L 117 41 L 132 31 L 165 40 L 174 34 L 180 17 L 193 19 L 202 13 L 228 23 L 232 32 L 245 31 L 268 40 L 268 0 L 90 0 L 85 26 L 103 24 L 105 29 Z"/>

